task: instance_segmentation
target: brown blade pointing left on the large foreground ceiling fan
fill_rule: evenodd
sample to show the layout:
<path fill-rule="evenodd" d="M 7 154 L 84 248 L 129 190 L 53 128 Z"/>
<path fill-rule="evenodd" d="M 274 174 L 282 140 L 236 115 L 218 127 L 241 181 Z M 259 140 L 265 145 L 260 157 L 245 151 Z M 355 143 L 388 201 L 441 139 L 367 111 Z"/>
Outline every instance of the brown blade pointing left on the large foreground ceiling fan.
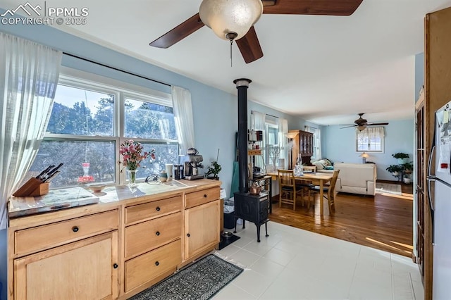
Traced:
<path fill-rule="evenodd" d="M 193 32 L 199 30 L 203 26 L 204 23 L 202 23 L 202 20 L 200 20 L 199 13 L 196 13 L 185 22 L 174 27 L 172 30 L 169 30 L 158 39 L 155 39 L 154 42 L 151 42 L 149 45 L 158 48 L 168 48 L 176 42 L 185 39 L 185 37 L 191 35 Z"/>

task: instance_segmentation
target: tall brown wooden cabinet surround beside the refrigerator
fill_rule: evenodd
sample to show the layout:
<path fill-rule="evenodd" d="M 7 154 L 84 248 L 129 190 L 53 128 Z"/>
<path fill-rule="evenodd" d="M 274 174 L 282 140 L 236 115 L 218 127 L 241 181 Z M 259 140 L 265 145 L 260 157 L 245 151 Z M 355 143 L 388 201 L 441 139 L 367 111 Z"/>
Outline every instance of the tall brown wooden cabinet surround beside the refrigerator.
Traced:
<path fill-rule="evenodd" d="M 424 51 L 424 104 L 421 108 L 423 114 L 424 127 L 424 159 L 421 172 L 416 175 L 423 189 L 427 189 L 426 173 L 429 154 L 433 142 L 433 130 L 435 128 L 435 111 L 442 107 L 451 99 L 451 8 L 428 13 L 425 18 L 425 51 Z M 432 165 L 434 165 L 432 161 Z M 435 174 L 434 168 L 431 175 Z M 431 186 L 433 191 L 433 186 Z M 421 199 L 420 199 L 421 201 Z M 417 236 L 423 235 L 423 249 L 419 253 L 424 259 L 421 261 L 421 271 L 424 274 L 424 295 L 425 299 L 432 299 L 432 277 L 433 277 L 433 222 L 431 218 L 430 203 L 427 192 L 424 193 L 422 203 L 422 215 L 419 218 L 421 229 L 416 232 Z M 418 228 L 418 227 L 417 227 Z M 418 229 L 417 229 L 418 230 Z M 418 255 L 417 254 L 417 255 Z"/>

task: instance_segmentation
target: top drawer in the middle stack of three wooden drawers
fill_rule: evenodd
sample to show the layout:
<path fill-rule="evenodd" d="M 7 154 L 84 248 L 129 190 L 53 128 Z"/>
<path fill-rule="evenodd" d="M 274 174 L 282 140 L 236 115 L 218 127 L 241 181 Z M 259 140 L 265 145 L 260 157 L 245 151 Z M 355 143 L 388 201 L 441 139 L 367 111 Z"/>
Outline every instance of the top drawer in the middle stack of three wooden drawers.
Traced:
<path fill-rule="evenodd" d="M 174 211 L 181 211 L 182 196 L 175 196 L 159 201 L 128 206 L 125 208 L 125 224 L 130 224 L 140 220 L 165 215 Z"/>

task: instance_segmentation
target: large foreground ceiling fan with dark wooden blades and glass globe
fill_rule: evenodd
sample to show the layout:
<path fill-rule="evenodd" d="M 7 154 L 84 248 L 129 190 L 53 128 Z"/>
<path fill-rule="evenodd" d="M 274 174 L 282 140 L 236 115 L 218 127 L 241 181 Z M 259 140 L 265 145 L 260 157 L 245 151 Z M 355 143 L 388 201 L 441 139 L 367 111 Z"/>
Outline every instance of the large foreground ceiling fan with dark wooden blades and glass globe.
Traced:
<path fill-rule="evenodd" d="M 263 57 L 263 51 L 255 32 L 254 23 L 259 20 L 261 13 L 268 14 L 290 14 L 290 15 L 352 15 L 359 7 L 363 0 L 203 0 L 196 13 L 185 22 L 174 27 L 164 35 L 155 39 L 150 46 L 158 48 L 168 48 L 173 44 L 191 35 L 204 25 L 212 28 L 218 37 L 236 41 L 238 49 L 245 59 L 246 63 L 252 63 Z M 251 3 L 254 2 L 254 3 Z M 255 3 L 257 2 L 257 3 Z M 261 3 L 260 3 L 261 2 Z M 257 4 L 257 6 L 256 6 Z M 242 8 L 247 5 L 251 8 Z M 222 8 L 220 6 L 229 6 Z M 259 6 L 259 7 L 258 7 Z M 240 8 L 237 8 L 240 7 Z M 224 15 L 230 16 L 230 23 L 226 26 L 238 26 L 236 18 L 242 16 L 244 12 L 257 10 L 257 15 L 252 16 L 248 27 L 244 32 L 235 32 L 225 27 L 221 30 L 215 28 L 218 24 L 218 18 L 225 18 Z M 232 12 L 233 10 L 233 12 Z M 216 13 L 216 15 L 213 15 Z M 222 15 L 221 15 L 222 14 Z M 234 14 L 234 15 L 233 15 Z"/>

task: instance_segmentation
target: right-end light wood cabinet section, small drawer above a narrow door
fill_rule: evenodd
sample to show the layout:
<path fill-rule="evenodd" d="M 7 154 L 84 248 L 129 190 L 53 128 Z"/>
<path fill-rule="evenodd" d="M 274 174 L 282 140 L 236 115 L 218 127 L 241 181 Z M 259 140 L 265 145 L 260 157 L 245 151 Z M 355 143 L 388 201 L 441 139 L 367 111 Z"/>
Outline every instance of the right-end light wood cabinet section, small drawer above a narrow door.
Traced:
<path fill-rule="evenodd" d="M 183 261 L 214 249 L 219 243 L 219 187 L 185 195 L 185 249 Z"/>

